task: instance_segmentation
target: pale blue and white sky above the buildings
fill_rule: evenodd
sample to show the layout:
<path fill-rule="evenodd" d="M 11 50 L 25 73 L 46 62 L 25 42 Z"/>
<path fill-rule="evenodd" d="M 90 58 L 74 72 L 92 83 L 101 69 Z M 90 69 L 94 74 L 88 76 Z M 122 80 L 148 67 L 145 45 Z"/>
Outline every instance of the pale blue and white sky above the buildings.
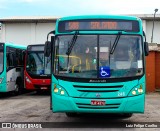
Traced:
<path fill-rule="evenodd" d="M 0 0 L 0 18 L 12 16 L 75 16 L 160 14 L 158 0 Z"/>

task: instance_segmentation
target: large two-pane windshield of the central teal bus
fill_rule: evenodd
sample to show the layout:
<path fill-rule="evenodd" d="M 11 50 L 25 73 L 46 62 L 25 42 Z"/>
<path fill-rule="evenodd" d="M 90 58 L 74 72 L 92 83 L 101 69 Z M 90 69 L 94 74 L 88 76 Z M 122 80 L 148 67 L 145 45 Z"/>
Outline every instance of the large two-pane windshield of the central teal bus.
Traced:
<path fill-rule="evenodd" d="M 121 35 L 114 53 L 110 50 L 117 35 L 78 35 L 70 54 L 66 54 L 73 35 L 57 36 L 54 56 L 54 74 L 76 78 L 134 77 L 143 74 L 142 38 Z"/>

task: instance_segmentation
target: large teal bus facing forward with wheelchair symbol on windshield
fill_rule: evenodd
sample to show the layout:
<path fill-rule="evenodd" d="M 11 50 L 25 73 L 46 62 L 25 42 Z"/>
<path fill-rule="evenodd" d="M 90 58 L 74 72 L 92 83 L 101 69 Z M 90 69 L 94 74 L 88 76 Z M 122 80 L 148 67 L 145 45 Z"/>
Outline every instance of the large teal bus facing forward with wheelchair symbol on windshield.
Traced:
<path fill-rule="evenodd" d="M 44 53 L 52 59 L 53 112 L 144 113 L 149 51 L 140 18 L 60 18 Z"/>

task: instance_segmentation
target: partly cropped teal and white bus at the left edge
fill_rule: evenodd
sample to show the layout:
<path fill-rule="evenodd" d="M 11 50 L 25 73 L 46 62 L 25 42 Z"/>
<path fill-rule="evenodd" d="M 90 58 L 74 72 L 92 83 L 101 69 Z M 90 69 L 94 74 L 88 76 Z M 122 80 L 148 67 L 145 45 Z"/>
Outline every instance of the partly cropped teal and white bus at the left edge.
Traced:
<path fill-rule="evenodd" d="M 24 52 L 26 46 L 0 43 L 0 92 L 18 95 L 24 88 Z"/>

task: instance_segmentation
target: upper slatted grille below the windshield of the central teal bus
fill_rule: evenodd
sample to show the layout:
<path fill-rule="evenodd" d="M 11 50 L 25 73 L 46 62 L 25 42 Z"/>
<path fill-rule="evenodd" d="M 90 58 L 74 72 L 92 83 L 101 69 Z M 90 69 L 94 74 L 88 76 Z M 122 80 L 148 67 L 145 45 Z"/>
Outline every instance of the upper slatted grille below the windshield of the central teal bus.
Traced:
<path fill-rule="evenodd" d="M 79 86 L 73 85 L 79 92 L 116 92 L 119 91 L 123 85 L 119 86 Z"/>

